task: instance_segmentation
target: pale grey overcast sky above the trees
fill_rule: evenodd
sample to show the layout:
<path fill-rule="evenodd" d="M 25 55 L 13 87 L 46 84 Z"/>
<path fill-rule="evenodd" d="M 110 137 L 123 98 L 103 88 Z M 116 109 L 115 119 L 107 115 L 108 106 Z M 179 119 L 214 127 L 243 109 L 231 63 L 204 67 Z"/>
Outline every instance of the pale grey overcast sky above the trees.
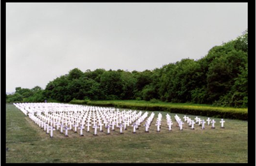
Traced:
<path fill-rule="evenodd" d="M 247 28 L 248 3 L 6 3 L 6 92 L 200 59 Z"/>

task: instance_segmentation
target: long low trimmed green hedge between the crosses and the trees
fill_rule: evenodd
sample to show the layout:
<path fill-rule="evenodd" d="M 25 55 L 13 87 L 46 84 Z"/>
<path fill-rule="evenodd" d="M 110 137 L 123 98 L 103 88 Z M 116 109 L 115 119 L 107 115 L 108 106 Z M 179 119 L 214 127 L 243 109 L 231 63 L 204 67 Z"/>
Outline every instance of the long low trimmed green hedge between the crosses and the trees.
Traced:
<path fill-rule="evenodd" d="M 196 116 L 221 117 L 225 119 L 239 119 L 248 120 L 247 109 L 236 109 L 228 107 L 205 107 L 193 105 L 161 105 L 161 103 L 125 103 L 125 102 L 106 102 L 106 101 L 84 101 L 72 100 L 70 103 L 97 105 L 100 107 L 116 107 L 122 109 L 136 109 L 136 110 L 152 110 L 152 111 L 166 111 L 177 114 L 190 114 Z"/>

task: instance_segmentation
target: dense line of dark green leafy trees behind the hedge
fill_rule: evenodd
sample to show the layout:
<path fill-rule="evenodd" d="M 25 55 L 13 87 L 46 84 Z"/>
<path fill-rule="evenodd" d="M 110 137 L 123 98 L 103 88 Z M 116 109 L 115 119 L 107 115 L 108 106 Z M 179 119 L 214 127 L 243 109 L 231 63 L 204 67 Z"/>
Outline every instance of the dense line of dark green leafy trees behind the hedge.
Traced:
<path fill-rule="evenodd" d="M 209 50 L 195 61 L 182 59 L 143 72 L 78 68 L 50 81 L 45 89 L 16 88 L 9 102 L 57 100 L 161 100 L 247 107 L 248 31 Z"/>

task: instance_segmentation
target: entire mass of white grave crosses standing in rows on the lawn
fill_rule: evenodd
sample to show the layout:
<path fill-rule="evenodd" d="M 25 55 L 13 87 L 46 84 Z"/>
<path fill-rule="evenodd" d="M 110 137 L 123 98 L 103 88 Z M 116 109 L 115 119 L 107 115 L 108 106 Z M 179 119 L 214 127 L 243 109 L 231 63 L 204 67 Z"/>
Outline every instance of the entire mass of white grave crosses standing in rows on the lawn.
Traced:
<path fill-rule="evenodd" d="M 148 116 L 148 112 L 142 114 L 142 112 L 137 112 L 128 110 L 120 112 L 118 109 L 111 109 L 105 107 L 92 107 L 92 106 L 81 106 L 81 105 L 68 105 L 61 103 L 16 103 L 15 106 L 22 110 L 24 114 L 28 114 L 29 118 L 35 121 L 39 127 L 44 128 L 44 131 L 49 133 L 53 130 L 59 130 L 60 133 L 63 133 L 65 130 L 65 136 L 68 137 L 68 130 L 73 130 L 75 133 L 77 129 L 79 130 L 79 135 L 83 136 L 83 130 L 87 127 L 87 132 L 90 132 L 90 126 L 94 128 L 94 134 L 97 135 L 97 129 L 99 128 L 100 132 L 103 131 L 102 126 L 105 126 L 110 133 L 110 127 L 115 131 L 116 128 L 120 128 L 120 133 L 123 133 L 124 130 L 127 130 L 127 126 L 132 124 L 133 133 L 136 133 L 138 126 L 143 122 Z M 154 118 L 154 112 L 147 118 L 145 121 L 145 132 L 148 132 L 148 128 L 152 123 Z M 156 120 L 157 132 L 160 132 L 161 126 L 161 113 L 158 114 Z M 202 129 L 204 129 L 205 121 L 196 117 L 194 122 L 191 118 L 184 116 L 184 121 L 191 126 L 191 129 L 194 129 L 194 124 L 202 124 Z M 180 130 L 182 130 L 182 120 L 179 116 L 175 115 L 175 120 L 179 124 Z M 211 123 L 212 128 L 214 127 L 214 119 L 206 120 L 208 125 Z M 172 130 L 172 119 L 170 115 L 166 114 L 166 122 L 168 124 L 169 130 Z M 220 121 L 221 128 L 223 127 L 223 119 Z"/>

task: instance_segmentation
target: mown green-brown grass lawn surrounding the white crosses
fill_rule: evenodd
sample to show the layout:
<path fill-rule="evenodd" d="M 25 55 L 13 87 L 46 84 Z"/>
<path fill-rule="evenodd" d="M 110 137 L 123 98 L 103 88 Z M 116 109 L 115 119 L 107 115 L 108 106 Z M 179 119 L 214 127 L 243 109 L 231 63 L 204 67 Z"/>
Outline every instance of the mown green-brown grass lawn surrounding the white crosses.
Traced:
<path fill-rule="evenodd" d="M 150 111 L 148 111 L 151 114 Z M 168 131 L 166 113 L 163 114 L 161 132 L 156 132 L 156 117 L 145 133 L 142 125 L 136 133 L 132 127 L 124 134 L 111 131 L 111 135 L 98 132 L 98 136 L 69 130 L 69 137 L 54 131 L 51 139 L 43 129 L 12 104 L 6 104 L 6 163 L 247 163 L 248 122 L 225 119 L 225 128 L 205 125 L 202 130 L 195 124 L 191 130 L 184 124 L 180 131 L 173 120 L 173 130 Z M 183 117 L 182 114 L 177 114 Z M 195 118 L 195 116 L 187 115 Z M 200 116 L 202 117 L 202 116 Z M 203 117 L 207 119 L 207 117 Z"/>

